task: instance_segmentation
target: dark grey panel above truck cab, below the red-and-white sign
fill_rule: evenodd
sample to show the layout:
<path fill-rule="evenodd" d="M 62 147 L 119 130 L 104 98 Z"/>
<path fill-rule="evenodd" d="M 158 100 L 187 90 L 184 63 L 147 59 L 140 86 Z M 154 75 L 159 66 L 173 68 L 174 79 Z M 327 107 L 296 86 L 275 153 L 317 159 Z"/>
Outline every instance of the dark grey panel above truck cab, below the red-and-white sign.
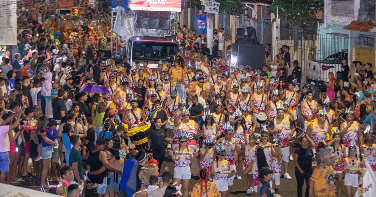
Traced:
<path fill-rule="evenodd" d="M 136 27 L 145 29 L 170 29 L 170 12 L 137 11 Z"/>

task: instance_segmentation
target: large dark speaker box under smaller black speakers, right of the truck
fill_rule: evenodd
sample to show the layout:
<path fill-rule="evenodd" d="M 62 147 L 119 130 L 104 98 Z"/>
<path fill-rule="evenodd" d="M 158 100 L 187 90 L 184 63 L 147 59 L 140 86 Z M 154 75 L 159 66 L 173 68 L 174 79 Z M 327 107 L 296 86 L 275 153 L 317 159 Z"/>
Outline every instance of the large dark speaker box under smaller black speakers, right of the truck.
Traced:
<path fill-rule="evenodd" d="M 238 65 L 252 65 L 254 69 L 265 66 L 265 47 L 263 45 L 239 44 Z"/>

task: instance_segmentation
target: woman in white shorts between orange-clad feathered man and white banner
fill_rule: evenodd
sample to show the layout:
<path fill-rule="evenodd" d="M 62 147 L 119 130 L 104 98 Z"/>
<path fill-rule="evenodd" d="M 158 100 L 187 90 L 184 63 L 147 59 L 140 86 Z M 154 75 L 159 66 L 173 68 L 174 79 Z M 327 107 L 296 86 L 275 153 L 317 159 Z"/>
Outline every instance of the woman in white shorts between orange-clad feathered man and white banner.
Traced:
<path fill-rule="evenodd" d="M 355 192 L 358 189 L 359 179 L 358 173 L 362 170 L 352 170 L 351 168 L 361 168 L 361 161 L 357 158 L 356 148 L 357 145 L 355 140 L 350 143 L 349 146 L 349 157 L 345 158 L 345 165 L 343 167 L 343 172 L 345 173 L 344 185 L 346 186 L 346 196 L 355 196 Z"/>

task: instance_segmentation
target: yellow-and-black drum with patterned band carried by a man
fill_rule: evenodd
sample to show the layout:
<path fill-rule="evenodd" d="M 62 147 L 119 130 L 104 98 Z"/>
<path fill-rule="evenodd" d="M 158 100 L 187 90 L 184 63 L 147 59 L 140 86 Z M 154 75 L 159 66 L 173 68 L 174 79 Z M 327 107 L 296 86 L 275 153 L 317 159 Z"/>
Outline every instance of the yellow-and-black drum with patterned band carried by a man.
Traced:
<path fill-rule="evenodd" d="M 127 136 L 130 137 L 131 143 L 136 146 L 137 150 L 143 149 L 147 146 L 147 134 L 145 131 L 149 128 L 149 125 L 141 125 L 128 130 Z"/>

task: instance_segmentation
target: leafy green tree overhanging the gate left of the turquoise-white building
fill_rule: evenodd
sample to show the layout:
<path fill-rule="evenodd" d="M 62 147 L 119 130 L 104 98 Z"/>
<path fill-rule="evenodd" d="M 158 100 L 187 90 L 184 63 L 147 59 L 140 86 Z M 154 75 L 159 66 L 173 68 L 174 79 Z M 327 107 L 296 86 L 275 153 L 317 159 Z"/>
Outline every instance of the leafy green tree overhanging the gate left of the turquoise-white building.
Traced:
<path fill-rule="evenodd" d="M 270 12 L 291 25 L 315 25 L 316 13 L 324 9 L 324 0 L 274 0 Z"/>

